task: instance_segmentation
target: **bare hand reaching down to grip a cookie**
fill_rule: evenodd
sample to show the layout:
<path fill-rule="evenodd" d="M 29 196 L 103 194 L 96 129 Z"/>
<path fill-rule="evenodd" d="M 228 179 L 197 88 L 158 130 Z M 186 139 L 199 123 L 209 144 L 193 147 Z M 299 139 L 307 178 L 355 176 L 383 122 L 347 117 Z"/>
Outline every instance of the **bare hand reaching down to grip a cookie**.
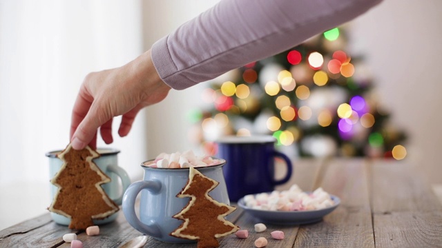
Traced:
<path fill-rule="evenodd" d="M 157 74 L 150 50 L 120 68 L 92 72 L 79 90 L 72 112 L 70 141 L 74 149 L 96 147 L 99 128 L 106 144 L 113 142 L 113 117 L 122 115 L 119 136 L 131 130 L 143 107 L 162 101 L 171 90 Z"/>

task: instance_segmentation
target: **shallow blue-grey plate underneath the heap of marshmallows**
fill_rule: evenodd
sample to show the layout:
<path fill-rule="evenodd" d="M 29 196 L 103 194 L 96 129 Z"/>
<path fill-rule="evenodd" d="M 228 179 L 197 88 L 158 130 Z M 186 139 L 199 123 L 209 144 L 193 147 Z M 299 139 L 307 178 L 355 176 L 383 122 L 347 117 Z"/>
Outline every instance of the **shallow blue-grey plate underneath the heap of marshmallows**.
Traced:
<path fill-rule="evenodd" d="M 238 205 L 247 213 L 262 220 L 263 223 L 276 225 L 302 225 L 309 223 L 316 223 L 323 220 L 323 217 L 330 214 L 340 203 L 337 196 L 330 195 L 334 205 L 325 209 L 318 210 L 302 210 L 302 211 L 270 211 L 252 209 L 247 207 L 244 203 L 244 198 L 238 200 Z"/>

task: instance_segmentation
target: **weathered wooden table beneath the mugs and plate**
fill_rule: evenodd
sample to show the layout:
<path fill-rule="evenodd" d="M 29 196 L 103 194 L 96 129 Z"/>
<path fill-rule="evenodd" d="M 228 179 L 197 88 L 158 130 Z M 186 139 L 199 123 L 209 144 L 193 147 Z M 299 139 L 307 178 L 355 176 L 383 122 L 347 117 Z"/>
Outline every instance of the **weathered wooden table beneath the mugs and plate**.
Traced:
<path fill-rule="evenodd" d="M 442 205 L 429 185 L 407 162 L 368 160 L 302 160 L 284 189 L 296 183 L 304 190 L 323 187 L 338 196 L 340 206 L 319 223 L 283 226 L 267 225 L 257 234 L 260 223 L 237 209 L 229 220 L 249 230 L 249 238 L 235 235 L 220 238 L 220 247 L 254 247 L 260 236 L 267 247 L 442 247 Z M 30 203 L 32 204 L 32 203 Z M 3 213 L 2 213 L 3 214 Z M 285 232 L 284 240 L 273 240 L 270 231 Z M 120 212 L 114 223 L 102 225 L 99 236 L 78 231 L 84 247 L 119 247 L 140 236 Z M 0 231 L 0 247 L 70 247 L 62 239 L 72 232 L 44 214 Z M 149 238 L 144 247 L 196 247 Z"/>

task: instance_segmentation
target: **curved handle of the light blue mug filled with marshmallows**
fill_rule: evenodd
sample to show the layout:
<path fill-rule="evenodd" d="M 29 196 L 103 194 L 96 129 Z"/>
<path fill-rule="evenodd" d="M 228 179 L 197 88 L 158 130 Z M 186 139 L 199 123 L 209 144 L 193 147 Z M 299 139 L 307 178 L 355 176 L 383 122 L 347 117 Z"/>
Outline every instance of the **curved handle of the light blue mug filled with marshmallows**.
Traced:
<path fill-rule="evenodd" d="M 147 234 L 156 238 L 161 238 L 161 230 L 155 221 L 151 220 L 147 225 L 142 223 L 135 214 L 135 199 L 140 194 L 142 189 L 147 189 L 152 194 L 158 194 L 161 189 L 161 182 L 159 180 L 140 180 L 131 184 L 124 192 L 123 196 L 123 213 L 128 223 L 142 234 Z M 157 207 L 157 206 L 151 206 Z"/>

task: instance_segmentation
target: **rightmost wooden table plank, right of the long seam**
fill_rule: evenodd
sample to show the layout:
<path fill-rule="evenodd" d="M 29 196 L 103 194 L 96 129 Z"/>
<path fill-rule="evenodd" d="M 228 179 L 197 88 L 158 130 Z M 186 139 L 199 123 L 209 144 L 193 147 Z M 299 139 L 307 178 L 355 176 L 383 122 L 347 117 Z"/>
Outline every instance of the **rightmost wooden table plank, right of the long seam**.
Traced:
<path fill-rule="evenodd" d="M 442 247 L 442 206 L 430 185 L 406 162 L 371 169 L 376 246 Z"/>

